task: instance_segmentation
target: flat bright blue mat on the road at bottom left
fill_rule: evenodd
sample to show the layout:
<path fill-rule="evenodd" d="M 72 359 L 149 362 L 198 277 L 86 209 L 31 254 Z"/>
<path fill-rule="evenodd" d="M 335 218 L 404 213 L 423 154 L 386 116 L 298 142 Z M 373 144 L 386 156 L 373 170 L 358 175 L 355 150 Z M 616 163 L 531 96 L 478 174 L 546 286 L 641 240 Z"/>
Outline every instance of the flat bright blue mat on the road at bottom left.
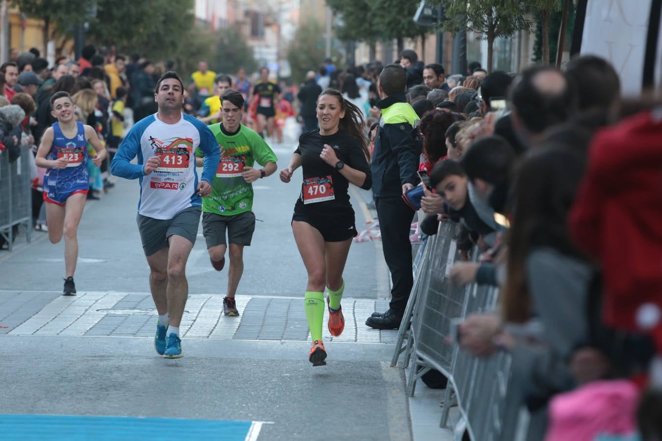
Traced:
<path fill-rule="evenodd" d="M 0 415 L 2 440 L 177 440 L 244 441 L 250 421 L 175 418 Z"/>

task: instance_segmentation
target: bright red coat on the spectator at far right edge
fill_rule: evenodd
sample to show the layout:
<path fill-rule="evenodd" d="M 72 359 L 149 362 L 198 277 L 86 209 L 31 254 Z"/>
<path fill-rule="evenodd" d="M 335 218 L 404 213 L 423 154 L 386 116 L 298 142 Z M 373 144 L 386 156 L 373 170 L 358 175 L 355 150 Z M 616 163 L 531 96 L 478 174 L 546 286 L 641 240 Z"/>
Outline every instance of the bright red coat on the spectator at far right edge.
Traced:
<path fill-rule="evenodd" d="M 641 329 L 641 305 L 662 310 L 662 108 L 596 134 L 569 226 L 602 263 L 605 323 Z"/>

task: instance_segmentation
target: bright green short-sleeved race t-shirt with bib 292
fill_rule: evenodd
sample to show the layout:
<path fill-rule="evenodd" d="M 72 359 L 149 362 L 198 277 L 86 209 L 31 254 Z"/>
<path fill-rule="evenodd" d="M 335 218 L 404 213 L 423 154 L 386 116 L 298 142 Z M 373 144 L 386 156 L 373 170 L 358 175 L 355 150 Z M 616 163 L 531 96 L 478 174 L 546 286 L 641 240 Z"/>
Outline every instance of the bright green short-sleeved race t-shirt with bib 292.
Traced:
<path fill-rule="evenodd" d="M 242 177 L 244 167 L 253 167 L 256 162 L 264 167 L 278 158 L 254 130 L 242 124 L 238 133 L 228 136 L 222 132 L 221 124 L 209 126 L 220 145 L 221 155 L 211 184 L 212 192 L 203 198 L 203 212 L 234 216 L 253 208 L 253 186 Z M 196 149 L 195 155 L 204 157 L 200 149 Z"/>

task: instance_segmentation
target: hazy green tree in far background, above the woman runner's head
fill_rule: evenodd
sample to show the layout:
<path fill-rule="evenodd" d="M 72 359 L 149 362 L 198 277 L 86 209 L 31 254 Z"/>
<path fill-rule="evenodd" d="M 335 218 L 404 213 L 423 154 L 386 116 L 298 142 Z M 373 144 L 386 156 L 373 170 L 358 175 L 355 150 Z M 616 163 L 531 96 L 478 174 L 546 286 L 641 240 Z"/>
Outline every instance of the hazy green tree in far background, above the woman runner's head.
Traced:
<path fill-rule="evenodd" d="M 292 69 L 292 79 L 297 83 L 304 81 L 306 72 L 316 70 L 324 62 L 324 30 L 315 20 L 303 22 L 287 50 L 287 61 Z M 332 49 L 332 58 L 340 60 L 340 53 Z M 340 61 L 336 62 L 340 64 Z"/>

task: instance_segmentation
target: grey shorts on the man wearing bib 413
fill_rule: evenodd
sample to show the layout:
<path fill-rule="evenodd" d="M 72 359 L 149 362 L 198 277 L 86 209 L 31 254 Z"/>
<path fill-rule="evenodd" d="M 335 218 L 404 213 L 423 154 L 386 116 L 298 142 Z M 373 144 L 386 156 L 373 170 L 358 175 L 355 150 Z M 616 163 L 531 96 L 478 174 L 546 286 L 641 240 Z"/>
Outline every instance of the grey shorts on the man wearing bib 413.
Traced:
<path fill-rule="evenodd" d="M 160 249 L 169 246 L 168 237 L 173 234 L 188 239 L 195 244 L 200 223 L 200 207 L 189 207 L 175 214 L 172 219 L 154 219 L 138 214 L 136 223 L 140 231 L 142 249 L 146 256 L 151 256 Z"/>

